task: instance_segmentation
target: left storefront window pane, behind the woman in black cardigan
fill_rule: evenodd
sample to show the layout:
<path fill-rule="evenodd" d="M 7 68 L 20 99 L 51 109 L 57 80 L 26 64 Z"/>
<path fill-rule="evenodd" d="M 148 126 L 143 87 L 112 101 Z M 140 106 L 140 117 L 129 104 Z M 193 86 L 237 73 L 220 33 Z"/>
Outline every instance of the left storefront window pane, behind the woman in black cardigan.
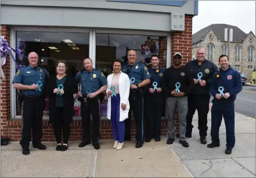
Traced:
<path fill-rule="evenodd" d="M 56 62 L 66 61 L 68 72 L 75 75 L 83 68 L 84 58 L 89 56 L 89 34 L 77 32 L 16 32 L 16 50 L 24 58 L 16 55 L 19 66 L 28 65 L 28 54 L 35 51 L 39 55 L 38 64 L 55 75 Z M 21 115 L 20 92 L 16 91 L 16 115 Z M 80 108 L 75 100 L 74 116 L 80 116 Z M 49 106 L 46 98 L 44 116 L 48 116 Z"/>

